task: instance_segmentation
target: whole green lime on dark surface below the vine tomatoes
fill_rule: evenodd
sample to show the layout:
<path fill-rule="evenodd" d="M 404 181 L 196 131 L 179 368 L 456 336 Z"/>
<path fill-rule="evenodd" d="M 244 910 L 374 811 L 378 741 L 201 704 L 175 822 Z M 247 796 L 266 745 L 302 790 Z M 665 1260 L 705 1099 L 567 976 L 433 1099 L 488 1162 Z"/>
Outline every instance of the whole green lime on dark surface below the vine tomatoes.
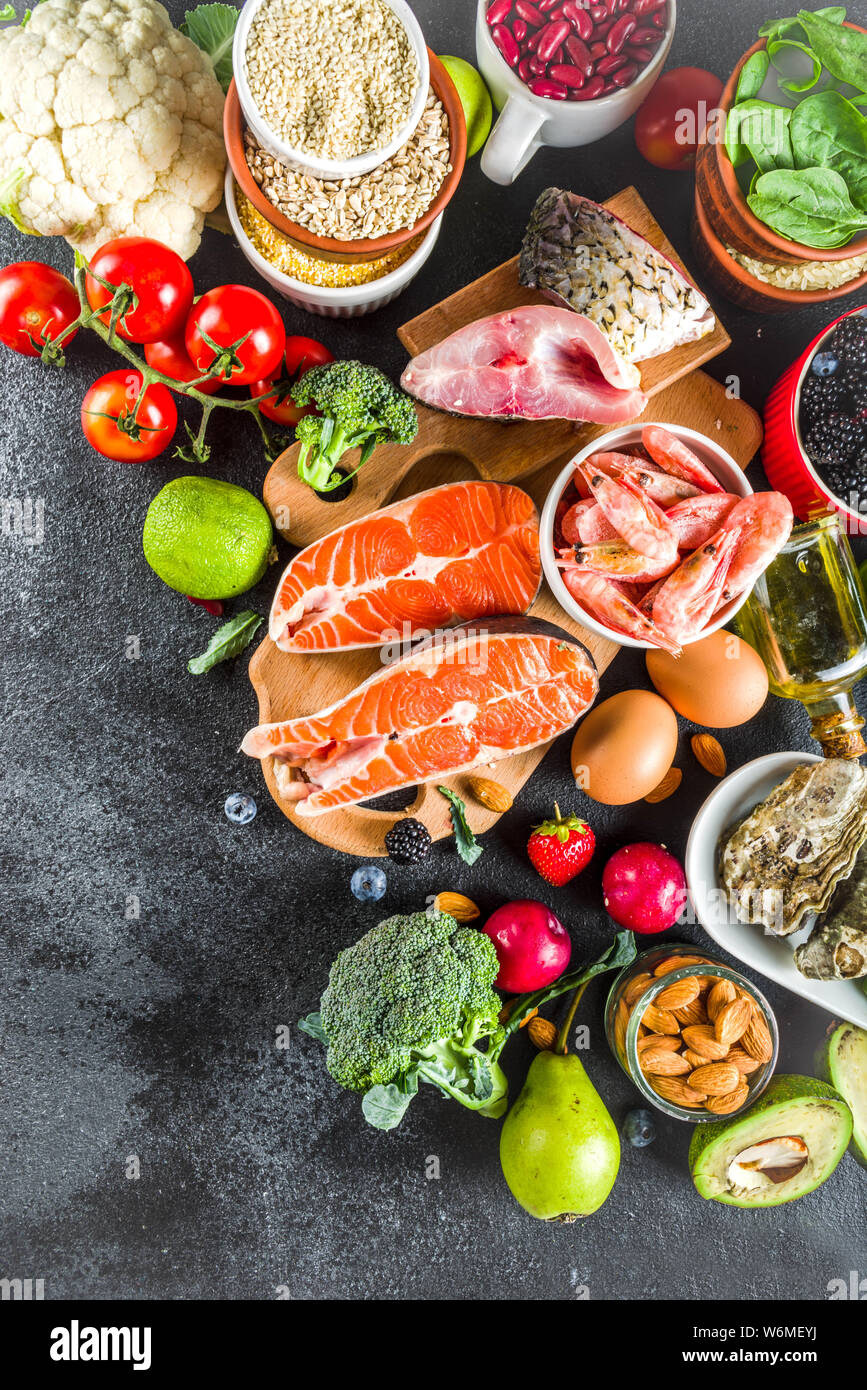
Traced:
<path fill-rule="evenodd" d="M 274 545 L 271 517 L 246 488 L 218 478 L 175 478 L 147 509 L 144 559 L 170 589 L 231 599 L 258 584 Z"/>

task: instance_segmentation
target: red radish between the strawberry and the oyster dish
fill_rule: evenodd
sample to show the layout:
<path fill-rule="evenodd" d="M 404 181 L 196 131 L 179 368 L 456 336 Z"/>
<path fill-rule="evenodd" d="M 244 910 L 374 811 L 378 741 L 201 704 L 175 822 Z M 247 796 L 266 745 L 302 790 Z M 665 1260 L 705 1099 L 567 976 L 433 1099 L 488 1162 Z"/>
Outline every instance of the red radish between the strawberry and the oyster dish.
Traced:
<path fill-rule="evenodd" d="M 663 845 L 624 845 L 602 874 L 606 912 L 620 927 L 667 931 L 686 902 L 684 869 Z"/>

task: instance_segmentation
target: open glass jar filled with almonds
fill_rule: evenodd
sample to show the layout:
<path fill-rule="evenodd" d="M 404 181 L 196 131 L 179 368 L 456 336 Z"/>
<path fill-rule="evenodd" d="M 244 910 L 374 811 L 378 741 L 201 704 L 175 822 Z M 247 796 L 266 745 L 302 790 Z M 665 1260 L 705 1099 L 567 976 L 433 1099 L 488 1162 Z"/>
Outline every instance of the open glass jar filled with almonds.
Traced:
<path fill-rule="evenodd" d="M 763 994 L 695 947 L 642 952 L 614 980 L 609 1045 L 645 1099 L 693 1125 L 738 1115 L 777 1065 L 777 1020 Z"/>

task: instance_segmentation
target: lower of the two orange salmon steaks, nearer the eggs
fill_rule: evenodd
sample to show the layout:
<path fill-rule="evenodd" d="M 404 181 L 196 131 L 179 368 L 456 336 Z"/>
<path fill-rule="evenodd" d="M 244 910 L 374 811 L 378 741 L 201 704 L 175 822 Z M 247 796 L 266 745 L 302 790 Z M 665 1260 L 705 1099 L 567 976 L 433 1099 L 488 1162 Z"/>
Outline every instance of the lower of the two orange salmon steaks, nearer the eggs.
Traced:
<path fill-rule="evenodd" d="M 591 653 L 561 628 L 527 617 L 467 623 L 318 714 L 251 728 L 240 746 L 275 759 L 278 791 L 297 816 L 321 816 L 546 744 L 597 689 Z"/>

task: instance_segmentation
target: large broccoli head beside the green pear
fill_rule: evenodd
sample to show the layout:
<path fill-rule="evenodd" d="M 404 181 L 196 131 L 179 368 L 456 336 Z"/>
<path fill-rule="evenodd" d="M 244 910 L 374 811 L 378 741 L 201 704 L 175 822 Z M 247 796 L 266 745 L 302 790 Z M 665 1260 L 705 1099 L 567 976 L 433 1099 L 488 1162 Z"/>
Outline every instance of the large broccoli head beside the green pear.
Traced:
<path fill-rule="evenodd" d="M 497 969 L 492 941 L 443 913 L 381 922 L 340 951 L 322 995 L 325 1065 L 335 1081 L 349 1091 L 375 1088 L 371 1104 L 393 1087 L 406 1097 L 403 1113 L 424 1080 L 470 1109 L 500 1115 L 506 1077 L 475 1047 L 500 1031 Z"/>

